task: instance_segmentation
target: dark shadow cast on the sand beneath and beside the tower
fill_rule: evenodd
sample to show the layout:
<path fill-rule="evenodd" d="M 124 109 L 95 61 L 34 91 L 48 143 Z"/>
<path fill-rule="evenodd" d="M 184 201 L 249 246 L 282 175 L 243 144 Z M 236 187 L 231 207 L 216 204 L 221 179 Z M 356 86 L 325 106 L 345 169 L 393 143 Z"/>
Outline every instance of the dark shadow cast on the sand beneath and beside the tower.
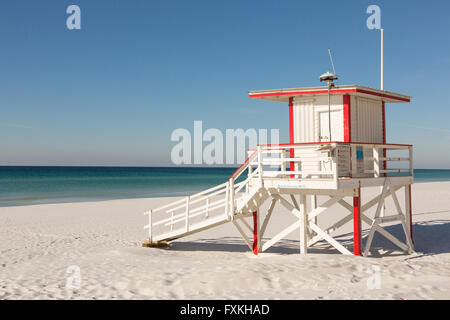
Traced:
<path fill-rule="evenodd" d="M 401 225 L 392 225 L 385 227 L 385 230 L 391 233 L 400 241 L 405 241 L 405 235 Z M 366 243 L 366 236 L 369 230 L 363 232 L 363 248 Z M 415 250 L 421 256 L 435 255 L 442 253 L 450 253 L 450 220 L 433 220 L 426 222 L 418 222 L 414 224 L 414 244 Z M 353 251 L 352 233 L 343 234 L 335 237 L 348 250 Z M 269 239 L 264 239 L 269 240 Z M 210 239 L 199 239 L 192 242 L 173 242 L 170 250 L 175 251 L 222 251 L 222 252 L 250 252 L 249 247 L 239 237 L 221 237 Z M 269 248 L 268 253 L 278 254 L 298 254 L 299 243 L 296 240 L 281 240 L 273 247 Z M 310 253 L 321 254 L 339 254 L 339 252 L 332 248 L 328 243 L 321 241 L 311 248 L 308 248 Z M 392 242 L 384 238 L 378 232 L 375 233 L 371 256 L 385 257 L 385 256 L 399 256 L 406 255 Z"/>

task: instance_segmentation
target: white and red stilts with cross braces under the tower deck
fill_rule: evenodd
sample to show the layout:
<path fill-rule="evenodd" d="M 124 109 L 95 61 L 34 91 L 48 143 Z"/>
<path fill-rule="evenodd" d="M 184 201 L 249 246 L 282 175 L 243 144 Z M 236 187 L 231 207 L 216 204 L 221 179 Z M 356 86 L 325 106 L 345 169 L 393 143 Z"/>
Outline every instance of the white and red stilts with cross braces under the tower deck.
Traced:
<path fill-rule="evenodd" d="M 300 253 L 306 254 L 308 248 L 314 246 L 319 241 L 326 241 L 336 250 L 342 254 L 352 254 L 352 252 L 342 245 L 339 241 L 332 237 L 332 234 L 342 228 L 345 224 L 353 221 L 353 254 L 368 256 L 370 253 L 372 241 L 375 232 L 379 232 L 382 236 L 390 240 L 401 250 L 412 253 L 414 252 L 414 245 L 412 240 L 412 222 L 411 222 L 411 185 L 410 184 L 396 184 L 401 182 L 397 178 L 384 178 L 383 187 L 381 193 L 374 198 L 367 201 L 365 204 L 361 203 L 361 188 L 357 189 L 344 189 L 344 190 L 323 190 L 319 194 L 327 195 L 327 199 L 324 203 L 317 205 L 317 194 L 310 190 L 294 190 L 294 189 L 277 189 L 266 188 L 265 191 L 268 194 L 268 198 L 271 199 L 271 203 L 267 213 L 264 216 L 263 223 L 260 226 L 260 220 L 263 218 L 261 211 L 258 210 L 253 214 L 253 228 L 245 221 L 244 217 L 233 220 L 233 224 L 238 229 L 244 241 L 249 248 L 255 253 L 264 252 L 281 239 L 285 238 L 296 230 L 300 234 Z M 397 192 L 400 189 L 404 189 L 405 192 L 405 204 L 404 209 L 401 208 L 400 202 L 397 198 Z M 324 192 L 325 191 L 325 192 Z M 314 191 L 313 191 L 314 192 Z M 290 197 L 290 200 L 286 199 L 286 195 Z M 299 195 L 299 201 L 295 198 Z M 348 203 L 344 198 L 353 197 L 353 204 Z M 396 215 L 384 216 L 384 204 L 388 197 L 392 197 L 395 208 L 397 210 Z M 311 209 L 308 211 L 308 198 L 311 199 Z M 271 239 L 266 240 L 263 243 L 263 237 L 267 228 L 267 225 L 273 215 L 273 211 L 276 205 L 281 205 L 292 213 L 297 220 L 291 225 L 286 226 L 285 229 L 273 236 Z M 317 224 L 317 217 L 329 211 L 335 205 L 349 211 L 348 215 L 326 228 L 319 227 Z M 366 212 L 372 207 L 376 206 L 375 216 L 373 219 L 366 215 Z M 362 223 L 367 224 L 370 229 L 367 235 L 367 241 L 362 250 L 361 237 L 362 237 Z M 401 242 L 386 229 L 382 227 L 385 223 L 398 222 L 401 224 L 405 233 L 406 241 Z M 253 244 L 250 241 L 250 237 L 246 235 L 240 223 L 244 224 L 246 228 L 253 233 Z"/>

